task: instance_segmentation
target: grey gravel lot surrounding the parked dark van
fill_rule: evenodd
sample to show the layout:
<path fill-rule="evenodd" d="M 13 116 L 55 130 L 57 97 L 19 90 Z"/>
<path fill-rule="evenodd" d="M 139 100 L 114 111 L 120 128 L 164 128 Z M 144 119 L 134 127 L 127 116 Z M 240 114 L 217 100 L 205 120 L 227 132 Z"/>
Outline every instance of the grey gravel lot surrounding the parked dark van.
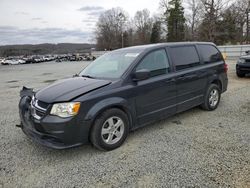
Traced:
<path fill-rule="evenodd" d="M 194 108 L 132 132 L 124 145 L 52 150 L 19 123 L 19 91 L 71 77 L 87 63 L 0 66 L 0 187 L 250 187 L 250 78 L 235 76 L 216 111 Z"/>

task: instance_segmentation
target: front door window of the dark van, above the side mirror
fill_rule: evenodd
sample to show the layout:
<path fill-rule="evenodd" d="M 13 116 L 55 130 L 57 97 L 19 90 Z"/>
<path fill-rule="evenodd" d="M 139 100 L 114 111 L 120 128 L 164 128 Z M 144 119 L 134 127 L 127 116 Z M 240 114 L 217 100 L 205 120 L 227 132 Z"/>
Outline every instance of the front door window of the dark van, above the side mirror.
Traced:
<path fill-rule="evenodd" d="M 151 77 L 166 74 L 169 72 L 169 62 L 164 49 L 148 54 L 138 65 L 136 70 L 147 69 Z"/>

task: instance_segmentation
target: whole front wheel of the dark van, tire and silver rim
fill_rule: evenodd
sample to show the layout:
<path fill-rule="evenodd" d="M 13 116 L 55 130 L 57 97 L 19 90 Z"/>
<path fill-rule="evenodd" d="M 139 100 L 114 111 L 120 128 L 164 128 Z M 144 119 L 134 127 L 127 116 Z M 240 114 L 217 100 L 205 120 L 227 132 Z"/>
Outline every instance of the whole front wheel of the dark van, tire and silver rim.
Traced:
<path fill-rule="evenodd" d="M 90 133 L 91 143 L 101 150 L 113 150 L 123 144 L 129 132 L 127 115 L 117 108 L 104 111 Z"/>

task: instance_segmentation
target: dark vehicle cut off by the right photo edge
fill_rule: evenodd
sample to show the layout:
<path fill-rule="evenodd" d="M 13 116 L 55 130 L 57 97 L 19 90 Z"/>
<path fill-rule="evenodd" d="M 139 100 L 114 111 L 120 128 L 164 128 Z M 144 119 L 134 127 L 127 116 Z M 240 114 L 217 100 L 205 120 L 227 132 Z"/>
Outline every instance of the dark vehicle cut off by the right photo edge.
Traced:
<path fill-rule="evenodd" d="M 236 74 L 240 78 L 250 74 L 250 52 L 247 51 L 246 54 L 241 56 L 236 64 Z"/>

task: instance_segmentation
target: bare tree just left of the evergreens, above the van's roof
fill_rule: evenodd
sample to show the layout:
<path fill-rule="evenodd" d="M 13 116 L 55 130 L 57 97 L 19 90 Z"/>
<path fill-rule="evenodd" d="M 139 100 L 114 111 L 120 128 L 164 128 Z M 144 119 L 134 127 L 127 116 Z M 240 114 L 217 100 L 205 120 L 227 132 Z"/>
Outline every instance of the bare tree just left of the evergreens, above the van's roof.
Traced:
<path fill-rule="evenodd" d="M 152 18 L 149 10 L 137 11 L 134 17 L 134 25 L 136 27 L 137 43 L 149 43 L 152 31 Z"/>

